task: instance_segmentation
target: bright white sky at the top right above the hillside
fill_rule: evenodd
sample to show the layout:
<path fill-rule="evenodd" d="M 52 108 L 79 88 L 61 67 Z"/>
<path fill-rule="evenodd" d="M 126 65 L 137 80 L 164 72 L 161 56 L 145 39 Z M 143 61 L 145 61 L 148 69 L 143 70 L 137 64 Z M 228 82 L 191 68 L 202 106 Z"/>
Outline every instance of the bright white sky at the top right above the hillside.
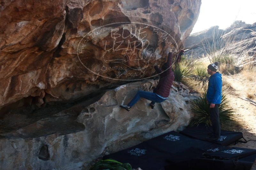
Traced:
<path fill-rule="evenodd" d="M 202 0 L 200 14 L 192 33 L 218 25 L 229 27 L 235 20 L 256 22 L 256 0 Z"/>

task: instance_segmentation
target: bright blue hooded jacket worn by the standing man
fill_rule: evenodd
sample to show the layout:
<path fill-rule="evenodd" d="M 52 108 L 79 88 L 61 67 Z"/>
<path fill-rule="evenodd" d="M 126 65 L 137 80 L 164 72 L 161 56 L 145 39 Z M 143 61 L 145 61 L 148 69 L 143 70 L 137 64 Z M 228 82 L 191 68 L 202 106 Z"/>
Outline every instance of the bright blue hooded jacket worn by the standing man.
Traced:
<path fill-rule="evenodd" d="M 209 103 L 221 104 L 221 87 L 221 74 L 216 72 L 209 78 L 208 89 L 206 93 L 206 98 Z"/>

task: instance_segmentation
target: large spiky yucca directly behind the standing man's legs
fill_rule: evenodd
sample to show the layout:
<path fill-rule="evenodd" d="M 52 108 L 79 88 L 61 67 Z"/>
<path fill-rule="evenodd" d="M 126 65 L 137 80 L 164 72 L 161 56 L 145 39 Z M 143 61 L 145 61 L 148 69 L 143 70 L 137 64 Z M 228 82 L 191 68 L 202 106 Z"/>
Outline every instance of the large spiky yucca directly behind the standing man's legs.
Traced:
<path fill-rule="evenodd" d="M 228 127 L 232 123 L 236 123 L 235 120 L 235 111 L 230 107 L 228 98 L 227 98 L 228 90 L 224 89 L 222 91 L 222 100 L 219 107 L 219 117 L 220 123 L 222 127 Z M 202 97 L 199 97 L 197 100 L 193 100 L 191 102 L 191 110 L 195 114 L 195 117 L 190 122 L 190 125 L 197 125 L 200 123 L 204 123 L 206 125 L 212 125 L 209 105 L 206 102 L 206 90 L 203 93 Z"/>

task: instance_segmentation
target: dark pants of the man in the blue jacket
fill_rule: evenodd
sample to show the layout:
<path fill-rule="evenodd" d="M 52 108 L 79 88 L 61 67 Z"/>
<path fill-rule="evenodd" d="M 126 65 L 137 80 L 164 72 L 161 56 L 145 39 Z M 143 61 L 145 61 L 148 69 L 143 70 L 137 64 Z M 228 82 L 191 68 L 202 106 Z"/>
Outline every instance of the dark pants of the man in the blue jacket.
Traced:
<path fill-rule="evenodd" d="M 210 108 L 210 110 L 209 110 L 210 114 L 211 114 L 211 121 L 213 124 L 213 135 L 216 138 L 220 138 L 220 136 L 221 136 L 219 106 L 220 106 L 220 104 L 215 104 L 214 108 Z"/>

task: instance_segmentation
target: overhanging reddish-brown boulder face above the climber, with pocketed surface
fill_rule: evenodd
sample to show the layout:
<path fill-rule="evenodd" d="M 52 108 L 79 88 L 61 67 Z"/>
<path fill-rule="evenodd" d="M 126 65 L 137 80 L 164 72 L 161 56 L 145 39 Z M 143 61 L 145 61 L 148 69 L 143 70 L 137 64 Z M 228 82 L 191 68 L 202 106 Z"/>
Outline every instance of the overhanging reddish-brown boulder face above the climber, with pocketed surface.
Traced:
<path fill-rule="evenodd" d="M 200 5 L 200 0 L 3 1 L 0 116 L 11 108 L 68 102 L 150 77 L 154 62 L 163 64 L 170 49 L 177 53 L 183 47 Z"/>

